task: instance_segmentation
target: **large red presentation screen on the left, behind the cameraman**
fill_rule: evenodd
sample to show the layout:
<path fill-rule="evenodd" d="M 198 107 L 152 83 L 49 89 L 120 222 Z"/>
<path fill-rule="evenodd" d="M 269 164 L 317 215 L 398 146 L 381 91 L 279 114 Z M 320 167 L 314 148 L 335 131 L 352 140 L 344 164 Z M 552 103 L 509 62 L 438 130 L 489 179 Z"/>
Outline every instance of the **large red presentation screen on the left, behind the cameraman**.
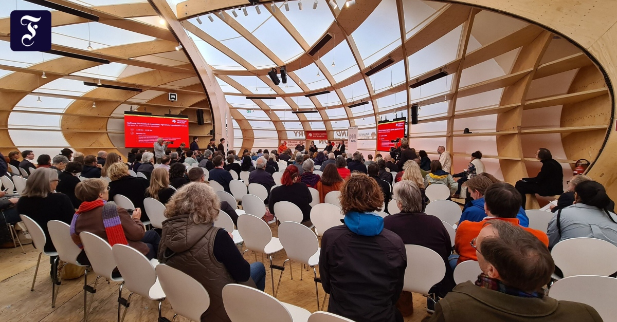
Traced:
<path fill-rule="evenodd" d="M 167 147 L 189 143 L 189 118 L 185 115 L 159 116 L 124 114 L 124 146 L 152 148 L 158 138 L 173 141 Z"/>

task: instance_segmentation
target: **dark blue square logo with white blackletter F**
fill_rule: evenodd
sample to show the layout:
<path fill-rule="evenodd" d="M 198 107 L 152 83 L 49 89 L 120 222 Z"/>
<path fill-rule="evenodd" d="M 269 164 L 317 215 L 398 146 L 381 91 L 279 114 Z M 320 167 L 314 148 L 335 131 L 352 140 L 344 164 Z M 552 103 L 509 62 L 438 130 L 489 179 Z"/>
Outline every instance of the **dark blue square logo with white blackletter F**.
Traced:
<path fill-rule="evenodd" d="M 10 49 L 12 51 L 49 51 L 51 49 L 51 12 L 14 10 L 10 13 Z"/>

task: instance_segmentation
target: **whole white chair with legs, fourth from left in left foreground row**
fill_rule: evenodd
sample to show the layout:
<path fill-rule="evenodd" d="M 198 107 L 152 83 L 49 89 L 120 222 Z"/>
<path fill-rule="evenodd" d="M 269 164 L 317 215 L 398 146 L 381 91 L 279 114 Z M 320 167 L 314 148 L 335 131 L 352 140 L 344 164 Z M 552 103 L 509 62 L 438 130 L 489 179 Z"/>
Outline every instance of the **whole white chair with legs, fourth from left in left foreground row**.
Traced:
<path fill-rule="evenodd" d="M 149 300 L 158 301 L 160 320 L 162 317 L 160 307 L 165 299 L 165 293 L 157 280 L 156 271 L 154 270 L 152 262 L 149 261 L 144 254 L 138 252 L 138 250 L 121 244 L 115 244 L 114 247 L 112 247 L 112 255 L 114 255 L 114 260 L 118 264 L 118 271 L 120 271 L 124 279 L 123 285 L 131 291 L 131 294 L 126 298 L 124 313 L 119 321 L 124 321 L 133 294 L 141 295 Z M 155 264 L 159 263 L 158 261 L 154 262 Z M 122 285 L 120 287 L 122 287 Z M 118 305 L 118 318 L 120 318 L 120 305 Z"/>

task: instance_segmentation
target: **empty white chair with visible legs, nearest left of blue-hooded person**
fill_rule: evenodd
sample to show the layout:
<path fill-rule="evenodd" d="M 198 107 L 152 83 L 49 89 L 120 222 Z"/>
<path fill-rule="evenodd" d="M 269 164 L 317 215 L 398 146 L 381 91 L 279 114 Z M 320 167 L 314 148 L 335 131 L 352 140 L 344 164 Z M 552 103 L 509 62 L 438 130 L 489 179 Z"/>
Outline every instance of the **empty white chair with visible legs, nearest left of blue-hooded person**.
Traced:
<path fill-rule="evenodd" d="M 277 202 L 276 205 L 280 204 Z M 293 221 L 285 221 L 278 227 L 278 238 L 283 245 L 283 249 L 287 253 L 287 259 L 283 262 L 283 267 L 288 260 L 294 260 L 304 265 L 309 265 L 313 268 L 313 275 L 315 278 L 315 295 L 317 295 L 317 310 L 319 310 L 319 289 L 317 287 L 317 270 L 315 265 L 319 264 L 320 247 L 317 236 L 312 230 L 300 223 Z M 302 281 L 302 270 L 300 268 L 300 281 Z M 291 262 L 289 262 L 289 273 L 291 279 L 294 279 L 294 275 L 291 269 Z M 283 276 L 283 274 L 281 274 Z M 281 278 L 279 278 L 281 283 Z"/>

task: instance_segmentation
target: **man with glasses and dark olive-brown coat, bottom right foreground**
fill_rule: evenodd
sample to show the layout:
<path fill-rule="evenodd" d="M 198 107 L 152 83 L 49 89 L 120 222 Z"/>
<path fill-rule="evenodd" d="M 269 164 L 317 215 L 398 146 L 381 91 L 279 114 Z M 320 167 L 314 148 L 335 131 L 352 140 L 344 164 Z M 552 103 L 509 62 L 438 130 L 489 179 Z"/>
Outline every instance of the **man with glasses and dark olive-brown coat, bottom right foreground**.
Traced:
<path fill-rule="evenodd" d="M 472 242 L 482 273 L 475 283 L 454 287 L 428 322 L 602 321 L 589 305 L 547 295 L 555 263 L 542 242 L 523 228 L 492 220 Z"/>

